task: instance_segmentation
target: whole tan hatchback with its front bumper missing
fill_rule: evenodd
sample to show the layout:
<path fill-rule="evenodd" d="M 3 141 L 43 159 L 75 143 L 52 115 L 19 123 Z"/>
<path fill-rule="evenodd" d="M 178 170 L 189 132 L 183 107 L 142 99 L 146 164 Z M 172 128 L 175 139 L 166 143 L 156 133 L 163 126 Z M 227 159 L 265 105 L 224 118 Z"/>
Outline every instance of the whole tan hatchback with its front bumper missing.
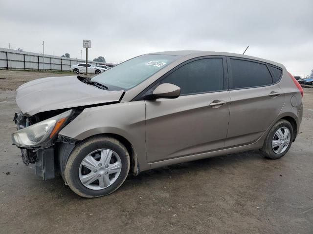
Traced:
<path fill-rule="evenodd" d="M 279 63 L 205 51 L 146 54 L 93 78 L 41 78 L 17 90 L 13 143 L 24 163 L 78 195 L 111 194 L 129 173 L 261 149 L 284 156 L 303 90 Z"/>

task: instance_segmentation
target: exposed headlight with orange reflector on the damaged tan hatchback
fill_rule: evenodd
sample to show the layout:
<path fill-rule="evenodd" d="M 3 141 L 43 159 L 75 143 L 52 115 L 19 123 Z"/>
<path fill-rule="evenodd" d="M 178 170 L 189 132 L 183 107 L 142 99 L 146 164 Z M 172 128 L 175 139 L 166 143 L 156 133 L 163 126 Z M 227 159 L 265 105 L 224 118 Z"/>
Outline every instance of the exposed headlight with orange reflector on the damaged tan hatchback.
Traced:
<path fill-rule="evenodd" d="M 72 110 L 66 111 L 13 133 L 13 143 L 22 148 L 45 146 L 61 130 L 71 113 Z"/>

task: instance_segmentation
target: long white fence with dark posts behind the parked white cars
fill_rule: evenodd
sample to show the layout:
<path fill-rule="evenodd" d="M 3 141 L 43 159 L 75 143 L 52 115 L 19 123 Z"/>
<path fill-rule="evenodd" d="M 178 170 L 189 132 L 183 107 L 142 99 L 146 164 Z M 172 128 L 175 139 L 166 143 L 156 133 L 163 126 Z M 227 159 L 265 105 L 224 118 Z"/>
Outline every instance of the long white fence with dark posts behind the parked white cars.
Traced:
<path fill-rule="evenodd" d="M 0 69 L 69 71 L 70 66 L 82 62 L 85 63 L 86 60 L 53 55 L 45 55 L 44 57 L 43 54 L 0 48 Z M 111 64 L 95 61 L 88 62 L 96 66 L 100 64 Z"/>

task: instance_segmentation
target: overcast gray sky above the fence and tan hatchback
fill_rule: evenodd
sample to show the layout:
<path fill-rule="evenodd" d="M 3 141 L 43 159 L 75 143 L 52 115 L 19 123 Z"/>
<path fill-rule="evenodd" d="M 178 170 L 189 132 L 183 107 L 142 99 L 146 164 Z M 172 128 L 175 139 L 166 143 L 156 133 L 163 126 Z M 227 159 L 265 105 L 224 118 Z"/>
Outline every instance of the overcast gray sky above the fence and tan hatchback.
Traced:
<path fill-rule="evenodd" d="M 210 50 L 313 69 L 313 0 L 0 0 L 0 47 L 119 63 L 166 50 Z M 85 58 L 83 52 L 83 58 Z"/>

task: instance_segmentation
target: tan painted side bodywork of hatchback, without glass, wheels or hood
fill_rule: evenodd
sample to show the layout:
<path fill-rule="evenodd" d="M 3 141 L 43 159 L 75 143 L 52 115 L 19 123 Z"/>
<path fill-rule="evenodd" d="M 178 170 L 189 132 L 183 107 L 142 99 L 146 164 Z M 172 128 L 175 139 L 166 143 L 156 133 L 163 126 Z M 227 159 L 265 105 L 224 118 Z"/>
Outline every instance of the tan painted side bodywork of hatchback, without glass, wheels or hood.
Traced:
<path fill-rule="evenodd" d="M 220 52 L 160 52 L 181 58 L 136 87 L 127 90 L 121 103 L 85 109 L 61 135 L 83 140 L 97 134 L 117 134 L 133 145 L 140 171 L 211 156 L 259 149 L 272 125 L 292 117 L 297 131 L 302 118 L 302 98 L 286 68 L 279 63 Z M 201 56 L 254 59 L 281 67 L 283 77 L 265 87 L 222 91 L 176 99 L 131 101 L 158 78 L 180 63 Z M 271 92 L 280 92 L 271 98 Z M 291 105 L 295 96 L 296 105 Z M 213 100 L 227 101 L 210 108 Z M 294 101 L 294 100 L 293 100 Z M 228 127 L 229 122 L 229 127 Z"/>

